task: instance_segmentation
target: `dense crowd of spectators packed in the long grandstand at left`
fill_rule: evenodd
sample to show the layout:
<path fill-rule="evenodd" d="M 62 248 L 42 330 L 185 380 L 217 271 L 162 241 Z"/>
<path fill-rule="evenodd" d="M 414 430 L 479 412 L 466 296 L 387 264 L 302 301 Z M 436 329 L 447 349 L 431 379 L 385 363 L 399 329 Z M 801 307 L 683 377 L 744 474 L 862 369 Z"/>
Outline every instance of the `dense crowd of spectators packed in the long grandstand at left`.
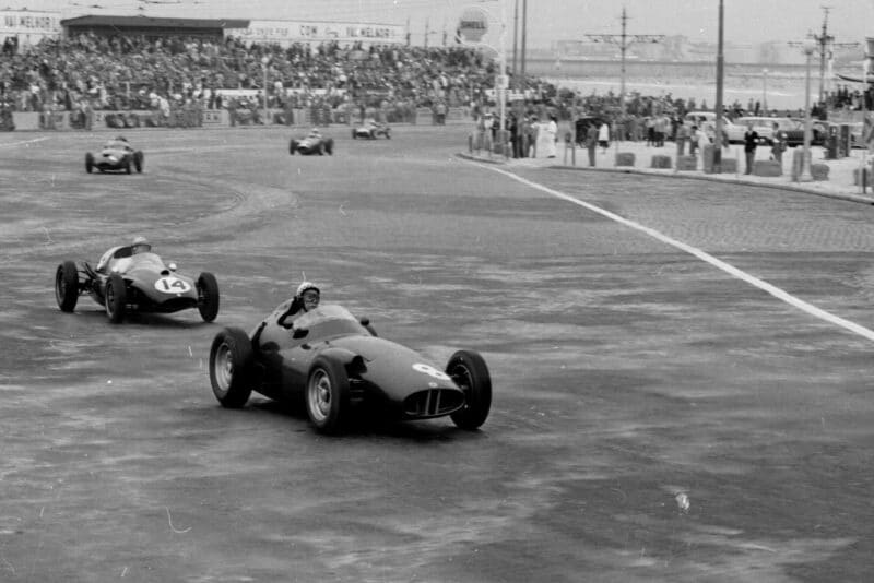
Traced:
<path fill-rule="evenodd" d="M 495 66 L 466 47 L 338 43 L 246 45 L 237 38 L 82 34 L 9 47 L 0 102 L 15 111 L 157 110 L 182 104 L 257 109 L 456 107 L 492 87 Z M 249 90 L 249 91 L 238 91 Z M 251 111 L 251 115 L 257 115 Z"/>

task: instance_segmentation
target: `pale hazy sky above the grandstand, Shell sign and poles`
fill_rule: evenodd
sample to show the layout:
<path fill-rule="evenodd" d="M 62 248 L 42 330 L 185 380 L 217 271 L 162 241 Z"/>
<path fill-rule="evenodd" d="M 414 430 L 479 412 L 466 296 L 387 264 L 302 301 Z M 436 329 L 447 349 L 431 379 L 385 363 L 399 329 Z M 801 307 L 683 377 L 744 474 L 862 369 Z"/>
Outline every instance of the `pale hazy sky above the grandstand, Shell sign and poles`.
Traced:
<path fill-rule="evenodd" d="M 422 44 L 426 26 L 430 44 L 441 41 L 442 29 L 454 29 L 470 5 L 493 15 L 492 34 L 506 23 L 505 43 L 512 43 L 515 9 L 519 21 L 527 3 L 527 44 L 548 48 L 556 40 L 583 40 L 586 34 L 619 34 L 623 8 L 627 33 L 685 35 L 693 41 L 716 43 L 719 0 L 0 0 L 10 9 L 50 10 L 63 17 L 82 14 L 331 21 L 399 24 L 414 44 Z M 752 45 L 801 40 L 819 34 L 830 5 L 828 31 L 838 43 L 863 41 L 874 35 L 874 0 L 724 0 L 725 41 Z M 95 8 L 99 7 L 99 8 Z M 503 19 L 501 19 L 503 13 Z"/>

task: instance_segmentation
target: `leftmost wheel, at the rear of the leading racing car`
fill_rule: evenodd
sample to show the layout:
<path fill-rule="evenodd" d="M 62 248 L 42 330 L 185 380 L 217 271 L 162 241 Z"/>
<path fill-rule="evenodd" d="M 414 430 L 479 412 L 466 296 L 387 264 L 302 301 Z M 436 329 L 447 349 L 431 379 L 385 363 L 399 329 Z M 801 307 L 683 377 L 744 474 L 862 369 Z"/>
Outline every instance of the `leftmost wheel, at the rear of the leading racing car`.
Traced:
<path fill-rule="evenodd" d="M 252 344 L 238 328 L 226 328 L 215 335 L 210 348 L 210 384 L 223 407 L 238 409 L 249 400 Z"/>

